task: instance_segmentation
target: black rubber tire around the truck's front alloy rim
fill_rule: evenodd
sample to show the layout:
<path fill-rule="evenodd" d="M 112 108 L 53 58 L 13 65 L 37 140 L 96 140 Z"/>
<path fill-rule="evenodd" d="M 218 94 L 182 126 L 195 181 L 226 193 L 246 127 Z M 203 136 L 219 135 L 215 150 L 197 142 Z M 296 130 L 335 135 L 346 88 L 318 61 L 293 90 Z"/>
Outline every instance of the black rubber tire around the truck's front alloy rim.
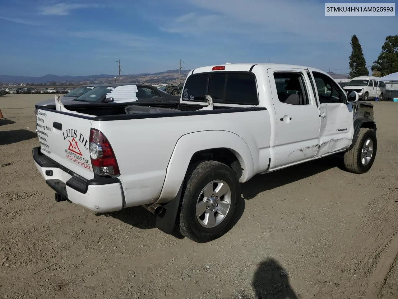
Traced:
<path fill-rule="evenodd" d="M 370 161 L 364 165 L 361 161 L 362 151 L 365 142 L 371 139 L 373 142 L 373 151 Z M 377 138 L 375 131 L 368 128 L 360 128 L 357 138 L 357 142 L 353 148 L 344 153 L 344 166 L 347 171 L 352 173 L 365 173 L 371 169 L 373 162 L 375 161 L 377 153 Z"/>

